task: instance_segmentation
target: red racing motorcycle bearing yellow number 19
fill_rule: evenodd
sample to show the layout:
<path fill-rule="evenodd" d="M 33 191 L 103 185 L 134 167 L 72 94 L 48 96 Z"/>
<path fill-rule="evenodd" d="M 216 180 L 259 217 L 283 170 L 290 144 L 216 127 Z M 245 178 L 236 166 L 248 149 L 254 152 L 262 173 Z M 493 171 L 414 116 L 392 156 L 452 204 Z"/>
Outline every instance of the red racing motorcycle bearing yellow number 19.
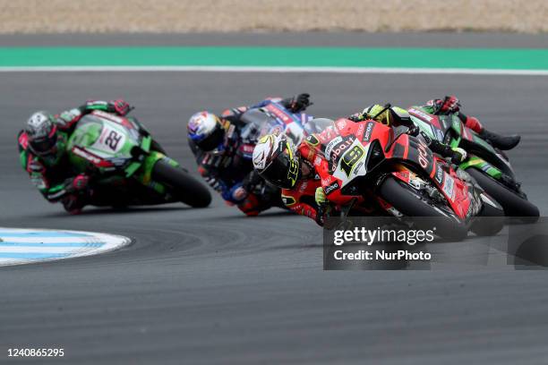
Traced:
<path fill-rule="evenodd" d="M 437 234 L 450 239 L 463 239 L 469 229 L 478 235 L 501 230 L 500 218 L 489 224 L 475 219 L 500 217 L 501 206 L 466 172 L 455 171 L 424 140 L 407 134 L 407 127 L 347 119 L 321 123 L 330 126 L 307 137 L 307 143 L 316 146 L 314 166 L 323 190 L 341 211 L 353 215 L 353 209 L 368 204 L 375 214 L 402 221 L 406 216 L 438 217 Z"/>

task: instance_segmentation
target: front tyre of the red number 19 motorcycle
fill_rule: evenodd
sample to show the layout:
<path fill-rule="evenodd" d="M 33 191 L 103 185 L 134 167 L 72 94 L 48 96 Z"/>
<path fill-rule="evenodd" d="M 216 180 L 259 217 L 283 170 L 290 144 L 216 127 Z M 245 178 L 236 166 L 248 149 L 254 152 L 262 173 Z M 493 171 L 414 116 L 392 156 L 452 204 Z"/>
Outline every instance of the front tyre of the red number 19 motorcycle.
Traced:
<path fill-rule="evenodd" d="M 427 201 L 406 183 L 400 183 L 394 176 L 387 176 L 381 183 L 379 194 L 382 199 L 398 209 L 404 216 L 437 217 L 436 234 L 442 239 L 461 241 L 467 237 L 467 225 L 461 222 L 457 216 L 435 208 L 433 203 Z M 431 224 L 427 225 L 421 228 L 432 229 Z"/>

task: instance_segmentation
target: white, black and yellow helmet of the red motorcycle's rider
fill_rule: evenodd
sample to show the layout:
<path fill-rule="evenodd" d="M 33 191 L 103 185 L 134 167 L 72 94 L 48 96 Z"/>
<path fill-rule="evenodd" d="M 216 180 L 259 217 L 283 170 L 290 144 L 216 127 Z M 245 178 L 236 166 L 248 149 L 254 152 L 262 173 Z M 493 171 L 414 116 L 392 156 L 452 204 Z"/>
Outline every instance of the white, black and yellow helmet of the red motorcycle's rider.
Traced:
<path fill-rule="evenodd" d="M 291 189 L 299 176 L 300 159 L 295 145 L 284 133 L 267 134 L 253 149 L 253 167 L 267 182 Z"/>

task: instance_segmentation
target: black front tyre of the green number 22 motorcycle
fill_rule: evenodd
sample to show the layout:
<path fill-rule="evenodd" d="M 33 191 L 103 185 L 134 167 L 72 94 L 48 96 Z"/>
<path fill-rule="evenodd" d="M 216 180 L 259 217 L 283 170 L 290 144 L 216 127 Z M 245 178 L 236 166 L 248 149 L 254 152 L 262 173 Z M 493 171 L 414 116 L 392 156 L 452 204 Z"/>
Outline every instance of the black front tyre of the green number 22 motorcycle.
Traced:
<path fill-rule="evenodd" d="M 211 194 L 208 188 L 180 167 L 159 160 L 152 169 L 152 178 L 171 187 L 176 198 L 184 204 L 193 208 L 205 208 L 210 205 Z"/>

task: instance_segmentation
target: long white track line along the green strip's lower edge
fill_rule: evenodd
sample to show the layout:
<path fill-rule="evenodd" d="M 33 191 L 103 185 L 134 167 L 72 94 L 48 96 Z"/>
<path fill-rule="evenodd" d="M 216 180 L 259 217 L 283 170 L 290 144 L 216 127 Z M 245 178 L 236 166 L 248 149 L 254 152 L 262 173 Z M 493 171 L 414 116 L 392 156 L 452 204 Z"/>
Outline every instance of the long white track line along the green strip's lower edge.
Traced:
<path fill-rule="evenodd" d="M 548 76 L 548 70 L 284 66 L 0 66 L 0 72 L 319 72 Z"/>

